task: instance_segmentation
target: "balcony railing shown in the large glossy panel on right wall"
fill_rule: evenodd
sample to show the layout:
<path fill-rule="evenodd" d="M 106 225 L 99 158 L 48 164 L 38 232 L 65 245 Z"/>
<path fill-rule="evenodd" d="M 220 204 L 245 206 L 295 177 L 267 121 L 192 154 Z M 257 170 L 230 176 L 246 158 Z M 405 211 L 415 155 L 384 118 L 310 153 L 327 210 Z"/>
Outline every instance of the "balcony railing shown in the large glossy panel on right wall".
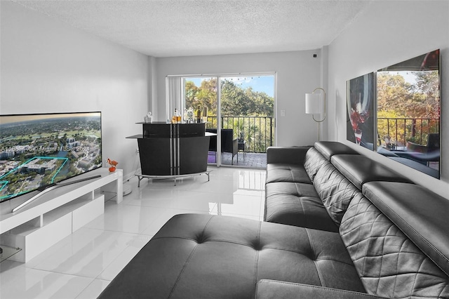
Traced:
<path fill-rule="evenodd" d="M 431 118 L 377 118 L 377 132 L 384 140 L 388 135 L 398 147 L 405 147 L 407 141 L 427 145 L 429 133 L 439 133 L 440 119 Z M 380 142 L 382 143 L 382 142 Z"/>

